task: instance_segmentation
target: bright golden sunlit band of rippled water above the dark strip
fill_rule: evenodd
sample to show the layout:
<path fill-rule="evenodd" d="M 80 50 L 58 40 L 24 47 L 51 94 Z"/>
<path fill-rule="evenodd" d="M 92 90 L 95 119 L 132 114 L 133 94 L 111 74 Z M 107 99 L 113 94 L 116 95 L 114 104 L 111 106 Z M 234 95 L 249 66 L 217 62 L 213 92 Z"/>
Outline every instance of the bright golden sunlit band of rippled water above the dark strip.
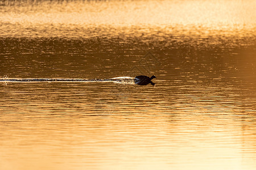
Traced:
<path fill-rule="evenodd" d="M 255 33 L 255 3 L 253 0 L 39 1 L 34 5 L 0 6 L 0 23 L 3 23 L 0 35 L 92 37 L 160 31 L 178 35 L 250 36 Z"/>

